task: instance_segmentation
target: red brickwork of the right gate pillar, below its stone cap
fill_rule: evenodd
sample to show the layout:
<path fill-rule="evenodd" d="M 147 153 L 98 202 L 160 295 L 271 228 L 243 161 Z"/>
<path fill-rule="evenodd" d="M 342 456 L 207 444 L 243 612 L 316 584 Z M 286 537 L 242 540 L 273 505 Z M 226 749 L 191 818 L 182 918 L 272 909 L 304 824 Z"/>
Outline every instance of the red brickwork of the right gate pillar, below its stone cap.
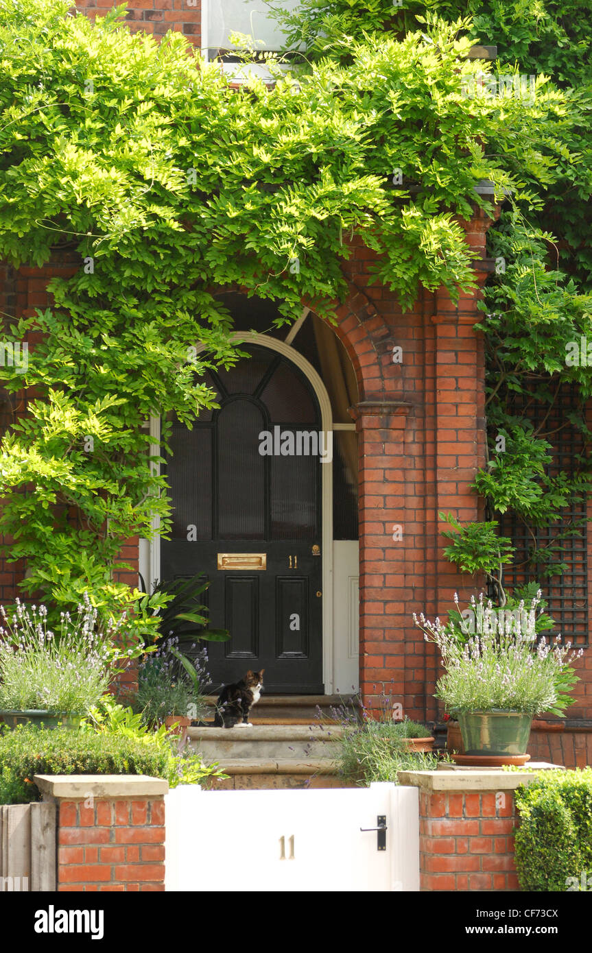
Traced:
<path fill-rule="evenodd" d="M 420 791 L 420 890 L 517 890 L 513 791 Z"/>

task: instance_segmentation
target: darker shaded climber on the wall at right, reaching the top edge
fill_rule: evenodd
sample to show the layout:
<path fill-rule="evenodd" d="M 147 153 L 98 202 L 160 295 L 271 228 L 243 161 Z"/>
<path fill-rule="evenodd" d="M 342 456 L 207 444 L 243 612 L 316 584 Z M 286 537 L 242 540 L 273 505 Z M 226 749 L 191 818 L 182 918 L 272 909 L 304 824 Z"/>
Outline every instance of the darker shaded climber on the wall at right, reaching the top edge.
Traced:
<path fill-rule="evenodd" d="M 478 325 L 486 342 L 490 462 L 475 482 L 492 516 L 511 510 L 531 532 L 537 526 L 558 525 L 561 510 L 589 493 L 589 466 L 585 459 L 576 461 L 575 474 L 551 467 L 556 461 L 547 437 L 552 435 L 545 433 L 544 423 L 534 433 L 527 411 L 517 412 L 514 402 L 517 395 L 525 395 L 527 407 L 536 399 L 550 411 L 561 399 L 558 385 L 575 385 L 581 409 L 566 414 L 565 420 L 580 429 L 589 447 L 582 411 L 592 395 L 592 376 L 585 364 L 569 364 L 565 357 L 566 348 L 581 335 L 592 342 L 590 4 L 405 0 L 398 8 L 390 0 L 302 0 L 297 10 L 286 11 L 270 0 L 269 6 L 287 33 L 287 45 L 296 50 L 300 42 L 306 44 L 309 70 L 324 57 L 351 64 L 362 35 L 378 45 L 385 30 L 401 42 L 414 30 L 429 34 L 436 10 L 448 22 L 472 17 L 460 32 L 472 42 L 496 45 L 494 75 L 518 70 L 522 76 L 538 77 L 537 82 L 547 76 L 564 92 L 566 112 L 556 124 L 551 147 L 557 156 L 553 176 L 541 176 L 540 160 L 550 158 L 550 140 L 542 143 L 534 126 L 532 162 L 521 166 L 520 175 L 512 150 L 503 149 L 504 169 L 521 178 L 521 190 L 506 195 L 500 220 L 488 233 L 488 254 L 502 267 L 487 283 Z M 537 98 L 540 94 L 538 86 Z M 503 457 L 497 450 L 500 435 L 508 442 Z M 533 533 L 528 554 L 532 574 L 543 578 L 561 573 L 566 567 L 565 538 L 582 532 L 582 524 L 572 522 L 544 550 L 538 549 Z M 449 548 L 447 553 L 450 557 L 455 551 Z M 476 561 L 469 559 L 466 565 Z M 500 585 L 501 578 L 500 572 Z"/>

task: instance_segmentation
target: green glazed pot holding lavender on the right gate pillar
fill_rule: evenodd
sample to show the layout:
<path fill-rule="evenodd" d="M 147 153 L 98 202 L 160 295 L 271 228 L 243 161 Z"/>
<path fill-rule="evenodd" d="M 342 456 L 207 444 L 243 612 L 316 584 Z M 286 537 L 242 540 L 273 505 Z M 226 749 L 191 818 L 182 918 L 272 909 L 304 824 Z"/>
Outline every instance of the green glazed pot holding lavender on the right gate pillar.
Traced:
<path fill-rule="evenodd" d="M 460 735 L 467 755 L 524 755 L 532 715 L 493 710 L 459 712 Z"/>

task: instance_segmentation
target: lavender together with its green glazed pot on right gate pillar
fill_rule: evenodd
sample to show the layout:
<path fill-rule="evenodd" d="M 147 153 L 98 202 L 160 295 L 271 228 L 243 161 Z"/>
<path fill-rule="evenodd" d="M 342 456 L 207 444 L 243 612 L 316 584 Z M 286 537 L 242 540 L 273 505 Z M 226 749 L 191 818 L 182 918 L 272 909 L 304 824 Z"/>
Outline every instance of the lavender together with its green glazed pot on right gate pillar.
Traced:
<path fill-rule="evenodd" d="M 481 593 L 479 602 L 471 600 L 476 631 L 469 635 L 454 620 L 443 625 L 439 618 L 431 622 L 414 615 L 424 638 L 439 647 L 445 672 L 436 698 L 457 715 L 465 749 L 455 760 L 524 763 L 534 716 L 546 711 L 561 716 L 572 703 L 567 693 L 577 676 L 570 663 L 582 651 L 561 645 L 561 636 L 553 642 L 539 637 L 540 602 L 541 592 L 528 610 L 521 602 L 519 612 L 504 618 Z"/>

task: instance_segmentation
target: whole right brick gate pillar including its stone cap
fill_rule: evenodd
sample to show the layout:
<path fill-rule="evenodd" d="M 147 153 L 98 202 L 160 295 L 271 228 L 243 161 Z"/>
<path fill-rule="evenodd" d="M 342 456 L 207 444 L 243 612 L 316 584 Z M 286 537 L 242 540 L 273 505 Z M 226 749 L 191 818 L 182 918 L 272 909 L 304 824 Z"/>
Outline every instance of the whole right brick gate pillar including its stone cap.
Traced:
<path fill-rule="evenodd" d="M 419 889 L 519 890 L 514 791 L 535 778 L 534 771 L 399 771 L 399 783 L 419 788 Z"/>

